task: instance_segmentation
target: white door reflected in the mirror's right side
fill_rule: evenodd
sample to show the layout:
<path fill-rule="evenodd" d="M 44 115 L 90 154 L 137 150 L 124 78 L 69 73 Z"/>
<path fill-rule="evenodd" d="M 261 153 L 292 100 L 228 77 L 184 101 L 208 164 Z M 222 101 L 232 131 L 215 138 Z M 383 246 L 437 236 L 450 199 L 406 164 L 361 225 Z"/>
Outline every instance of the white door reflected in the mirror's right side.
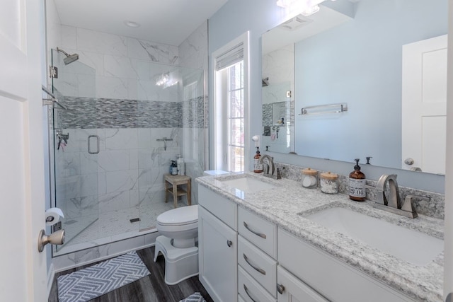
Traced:
<path fill-rule="evenodd" d="M 447 35 L 403 45 L 403 169 L 445 174 L 446 115 Z"/>

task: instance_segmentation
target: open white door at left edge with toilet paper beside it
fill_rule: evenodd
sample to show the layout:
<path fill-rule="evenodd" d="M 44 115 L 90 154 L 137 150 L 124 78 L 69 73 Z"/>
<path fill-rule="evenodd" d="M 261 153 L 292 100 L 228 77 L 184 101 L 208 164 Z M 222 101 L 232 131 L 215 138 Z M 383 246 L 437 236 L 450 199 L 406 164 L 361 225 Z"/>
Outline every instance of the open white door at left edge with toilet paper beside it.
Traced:
<path fill-rule="evenodd" d="M 40 80 L 43 1 L 0 9 L 0 301 L 47 301 Z"/>

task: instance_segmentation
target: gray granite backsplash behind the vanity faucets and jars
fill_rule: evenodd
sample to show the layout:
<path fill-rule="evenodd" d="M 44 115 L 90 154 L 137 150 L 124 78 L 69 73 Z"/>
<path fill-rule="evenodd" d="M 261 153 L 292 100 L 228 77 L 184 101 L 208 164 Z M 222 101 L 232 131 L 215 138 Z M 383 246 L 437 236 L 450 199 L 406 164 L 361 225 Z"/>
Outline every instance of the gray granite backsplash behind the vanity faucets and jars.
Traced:
<path fill-rule="evenodd" d="M 280 168 L 282 171 L 282 178 L 288 178 L 290 180 L 299 181 L 302 183 L 302 170 L 304 167 L 299 167 L 297 165 L 289 165 L 287 163 L 275 163 L 275 167 Z M 308 168 L 308 167 L 306 167 Z M 314 168 L 314 167 L 311 167 Z M 319 171 L 323 173 L 326 171 Z M 319 177 L 318 177 L 319 179 Z M 349 175 L 338 175 L 338 193 L 339 194 L 348 194 L 348 180 Z M 367 185 L 376 186 L 377 180 L 367 180 Z M 319 183 L 318 183 L 319 186 Z M 317 189 L 313 189 L 317 190 Z M 415 195 L 430 197 L 430 202 L 425 202 L 423 200 L 414 200 L 415 211 L 418 214 L 423 214 L 426 216 L 434 217 L 437 219 L 444 219 L 445 216 L 445 195 L 435 192 L 428 192 L 423 190 L 418 190 L 410 187 L 401 187 L 399 186 L 399 194 L 401 199 L 404 199 L 406 195 Z M 367 199 L 371 201 L 377 200 L 377 191 L 367 188 Z"/>

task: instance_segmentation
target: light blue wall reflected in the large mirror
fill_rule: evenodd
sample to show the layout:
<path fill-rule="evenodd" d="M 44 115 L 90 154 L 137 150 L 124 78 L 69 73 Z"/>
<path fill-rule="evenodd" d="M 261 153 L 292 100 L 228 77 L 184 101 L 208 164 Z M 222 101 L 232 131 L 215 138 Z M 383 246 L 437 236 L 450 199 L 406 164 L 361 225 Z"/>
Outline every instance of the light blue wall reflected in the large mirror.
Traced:
<path fill-rule="evenodd" d="M 426 4 L 362 0 L 352 21 L 296 43 L 296 109 L 349 108 L 335 117 L 297 116 L 298 154 L 344 161 L 372 156 L 374 165 L 401 166 L 402 46 L 447 33 L 447 0 Z"/>

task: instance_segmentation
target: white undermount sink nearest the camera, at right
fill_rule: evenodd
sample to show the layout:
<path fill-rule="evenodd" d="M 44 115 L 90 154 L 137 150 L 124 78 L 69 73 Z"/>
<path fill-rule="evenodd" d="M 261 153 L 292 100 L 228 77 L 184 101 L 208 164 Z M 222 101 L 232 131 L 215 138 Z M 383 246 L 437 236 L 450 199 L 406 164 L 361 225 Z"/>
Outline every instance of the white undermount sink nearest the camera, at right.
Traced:
<path fill-rule="evenodd" d="M 413 265 L 427 265 L 444 250 L 441 239 L 351 209 L 332 207 L 305 218 Z"/>

